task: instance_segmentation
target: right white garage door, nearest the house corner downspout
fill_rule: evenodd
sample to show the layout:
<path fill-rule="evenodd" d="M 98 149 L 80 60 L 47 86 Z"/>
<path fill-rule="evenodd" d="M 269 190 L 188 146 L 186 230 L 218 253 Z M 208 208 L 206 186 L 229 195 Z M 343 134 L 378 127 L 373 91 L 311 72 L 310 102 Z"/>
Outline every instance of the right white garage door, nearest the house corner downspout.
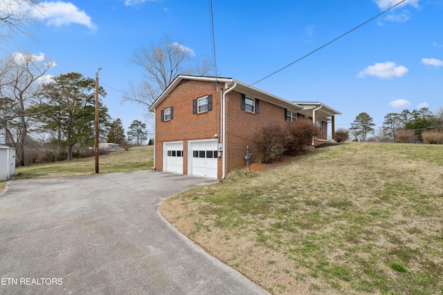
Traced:
<path fill-rule="evenodd" d="M 217 140 L 191 143 L 192 175 L 217 178 Z"/>

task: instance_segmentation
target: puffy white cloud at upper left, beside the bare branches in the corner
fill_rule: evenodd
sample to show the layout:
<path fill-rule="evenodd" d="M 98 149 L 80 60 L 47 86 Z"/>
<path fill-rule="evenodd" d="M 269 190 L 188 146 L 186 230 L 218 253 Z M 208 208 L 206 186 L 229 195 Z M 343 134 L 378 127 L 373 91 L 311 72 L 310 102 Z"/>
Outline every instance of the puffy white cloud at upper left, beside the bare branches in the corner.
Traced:
<path fill-rule="evenodd" d="M 71 2 L 46 1 L 39 4 L 41 7 L 39 11 L 35 11 L 35 17 L 46 20 L 48 26 L 78 23 L 87 26 L 91 30 L 96 28 L 96 25 L 91 21 L 91 17 Z"/>

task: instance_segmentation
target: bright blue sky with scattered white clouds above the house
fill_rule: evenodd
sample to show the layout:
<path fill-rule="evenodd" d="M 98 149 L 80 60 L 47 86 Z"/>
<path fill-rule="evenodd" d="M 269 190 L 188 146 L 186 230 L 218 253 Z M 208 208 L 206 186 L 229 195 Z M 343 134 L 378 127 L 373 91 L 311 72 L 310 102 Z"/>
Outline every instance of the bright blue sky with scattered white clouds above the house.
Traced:
<path fill-rule="evenodd" d="M 146 112 L 122 100 L 143 75 L 131 63 L 134 50 L 165 34 L 196 57 L 212 60 L 215 51 L 220 77 L 253 84 L 287 66 L 253 86 L 289 101 L 323 102 L 342 113 L 336 129 L 365 112 L 378 130 L 388 113 L 443 106 L 443 0 L 406 0 L 372 19 L 399 1 L 214 0 L 215 50 L 210 0 L 41 1 L 30 29 L 37 41 L 17 35 L 0 46 L 2 55 L 51 59 L 53 76 L 94 78 L 102 68 L 102 102 L 125 131 Z"/>

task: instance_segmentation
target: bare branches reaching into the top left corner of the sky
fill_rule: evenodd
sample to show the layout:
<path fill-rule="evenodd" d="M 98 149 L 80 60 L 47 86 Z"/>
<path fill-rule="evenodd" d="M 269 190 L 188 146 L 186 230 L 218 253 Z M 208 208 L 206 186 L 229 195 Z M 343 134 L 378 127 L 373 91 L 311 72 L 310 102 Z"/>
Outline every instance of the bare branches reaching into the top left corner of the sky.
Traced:
<path fill-rule="evenodd" d="M 20 33 L 33 39 L 28 30 L 35 26 L 40 12 L 38 0 L 0 0 L 0 40 L 11 39 Z"/>

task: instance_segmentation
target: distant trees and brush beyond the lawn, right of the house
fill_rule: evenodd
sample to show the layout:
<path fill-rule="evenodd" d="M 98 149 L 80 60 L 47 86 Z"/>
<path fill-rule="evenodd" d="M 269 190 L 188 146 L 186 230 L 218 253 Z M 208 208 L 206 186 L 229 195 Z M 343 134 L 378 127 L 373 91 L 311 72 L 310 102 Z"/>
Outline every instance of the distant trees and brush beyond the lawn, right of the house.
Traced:
<path fill-rule="evenodd" d="M 368 113 L 359 113 L 351 123 L 350 133 L 354 140 L 368 141 L 368 135 L 374 135 L 372 117 Z M 443 132 L 443 106 L 433 113 L 428 108 L 401 113 L 388 113 L 384 117 L 383 126 L 379 130 L 378 141 L 386 142 L 421 142 L 426 132 Z M 371 137 L 372 139 L 374 137 Z"/>

